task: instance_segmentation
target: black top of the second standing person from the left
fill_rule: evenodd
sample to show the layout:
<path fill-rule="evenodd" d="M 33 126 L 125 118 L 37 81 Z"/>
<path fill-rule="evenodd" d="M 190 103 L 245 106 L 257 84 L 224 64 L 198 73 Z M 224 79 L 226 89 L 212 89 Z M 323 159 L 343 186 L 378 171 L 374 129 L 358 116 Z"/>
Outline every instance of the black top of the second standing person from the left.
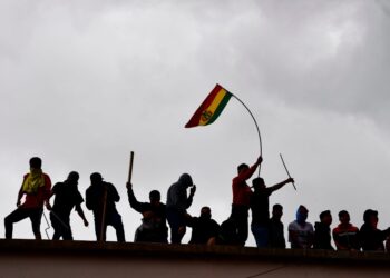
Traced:
<path fill-rule="evenodd" d="M 81 193 L 77 186 L 66 182 L 58 182 L 52 187 L 52 192 L 56 195 L 52 210 L 65 217 L 69 217 L 72 208 L 84 202 Z"/>

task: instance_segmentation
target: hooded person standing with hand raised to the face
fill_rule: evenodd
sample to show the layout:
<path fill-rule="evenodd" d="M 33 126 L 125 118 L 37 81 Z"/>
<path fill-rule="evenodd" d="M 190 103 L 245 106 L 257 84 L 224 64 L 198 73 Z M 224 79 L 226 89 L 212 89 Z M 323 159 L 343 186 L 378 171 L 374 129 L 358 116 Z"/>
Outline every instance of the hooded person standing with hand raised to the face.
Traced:
<path fill-rule="evenodd" d="M 187 197 L 187 188 L 191 187 Z M 187 208 L 193 203 L 196 186 L 188 173 L 183 173 L 167 192 L 167 220 L 170 227 L 170 242 L 181 244 L 186 232 Z"/>

